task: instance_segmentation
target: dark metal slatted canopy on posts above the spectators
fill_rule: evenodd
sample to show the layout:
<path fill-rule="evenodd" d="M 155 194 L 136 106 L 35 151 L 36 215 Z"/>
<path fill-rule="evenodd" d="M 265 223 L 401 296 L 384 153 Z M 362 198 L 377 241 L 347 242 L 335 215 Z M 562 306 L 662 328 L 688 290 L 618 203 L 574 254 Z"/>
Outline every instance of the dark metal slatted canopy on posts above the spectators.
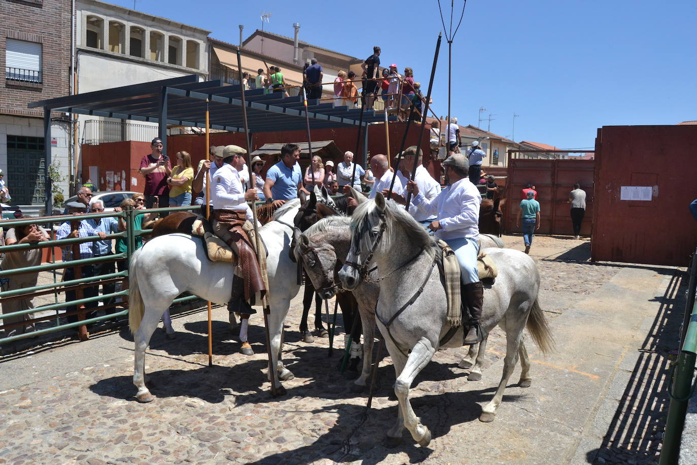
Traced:
<path fill-rule="evenodd" d="M 263 93 L 263 89 L 245 91 L 247 122 L 250 132 L 305 130 L 305 105 L 302 96 L 284 97 L 283 92 Z M 51 112 L 65 112 L 158 123 L 167 153 L 167 125 L 204 128 L 206 100 L 210 109 L 210 128 L 243 132 L 242 100 L 239 86 L 222 80 L 198 82 L 197 75 L 115 87 L 75 96 L 40 100 L 29 108 L 43 107 L 44 137 L 50 136 Z M 348 128 L 360 123 L 360 109 L 335 106 L 332 102 L 308 100 L 312 129 Z M 374 110 L 365 110 L 363 125 L 384 121 Z M 390 116 L 390 121 L 397 121 Z M 51 163 L 51 145 L 46 147 L 46 165 Z M 72 168 L 72 167 L 71 167 Z M 46 212 L 52 211 L 51 185 L 46 176 Z"/>

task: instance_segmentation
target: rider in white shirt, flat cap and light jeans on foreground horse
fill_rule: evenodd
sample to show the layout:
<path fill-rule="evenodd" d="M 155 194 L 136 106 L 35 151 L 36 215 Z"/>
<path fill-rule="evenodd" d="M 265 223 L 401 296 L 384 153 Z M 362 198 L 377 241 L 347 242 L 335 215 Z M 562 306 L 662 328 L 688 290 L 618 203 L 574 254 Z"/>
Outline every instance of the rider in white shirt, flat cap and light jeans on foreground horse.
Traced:
<path fill-rule="evenodd" d="M 429 229 L 436 231 L 436 237 L 447 242 L 455 252 L 460 264 L 460 282 L 463 303 L 470 312 L 469 330 L 464 344 L 477 344 L 482 340 L 482 303 L 484 287 L 477 272 L 479 253 L 479 211 L 482 196 L 468 179 L 469 165 L 465 155 L 450 155 L 444 162 L 445 181 L 448 187 L 433 200 L 427 200 L 420 192 L 418 183 L 409 181 L 406 192 L 414 195 L 413 204 L 425 215 L 436 214 L 437 220 L 431 222 Z"/>

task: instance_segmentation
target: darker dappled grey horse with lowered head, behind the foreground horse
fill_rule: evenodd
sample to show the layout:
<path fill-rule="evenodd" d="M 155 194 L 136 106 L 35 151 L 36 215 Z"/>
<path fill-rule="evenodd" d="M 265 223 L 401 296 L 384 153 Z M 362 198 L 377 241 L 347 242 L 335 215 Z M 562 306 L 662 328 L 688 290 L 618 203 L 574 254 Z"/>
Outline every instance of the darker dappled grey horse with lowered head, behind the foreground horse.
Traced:
<path fill-rule="evenodd" d="M 329 216 L 316 222 L 300 234 L 294 250 L 296 259 L 302 262 L 307 276 L 321 298 L 332 298 L 339 291 L 335 282 L 337 264 L 344 265 L 344 258 L 351 246 L 351 218 L 345 216 Z M 480 235 L 482 248 L 503 247 L 503 242 L 496 236 Z M 378 277 L 376 271 L 370 277 Z M 362 280 L 354 289 L 353 295 L 358 302 L 358 312 L 363 326 L 363 367 L 358 379 L 353 381 L 352 390 L 361 392 L 367 386 L 370 375 L 370 363 L 375 335 L 375 305 L 380 296 L 380 287 L 376 282 Z M 486 340 L 482 344 L 470 346 L 468 356 L 460 362 L 460 367 L 472 367 L 468 379 L 482 379 L 482 362 Z M 477 347 L 480 350 L 477 352 Z M 474 366 L 472 366 L 474 365 Z"/>

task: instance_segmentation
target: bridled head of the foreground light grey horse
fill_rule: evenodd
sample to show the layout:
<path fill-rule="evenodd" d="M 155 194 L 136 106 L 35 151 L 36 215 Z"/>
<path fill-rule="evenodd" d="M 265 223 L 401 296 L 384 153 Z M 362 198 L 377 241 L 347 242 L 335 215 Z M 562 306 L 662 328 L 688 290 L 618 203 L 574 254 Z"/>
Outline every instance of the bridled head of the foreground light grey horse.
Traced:
<path fill-rule="evenodd" d="M 385 231 L 385 197 L 378 192 L 374 201 L 356 207 L 351 218 L 351 247 L 339 270 L 342 287 L 352 291 L 367 275 L 368 266 Z"/>

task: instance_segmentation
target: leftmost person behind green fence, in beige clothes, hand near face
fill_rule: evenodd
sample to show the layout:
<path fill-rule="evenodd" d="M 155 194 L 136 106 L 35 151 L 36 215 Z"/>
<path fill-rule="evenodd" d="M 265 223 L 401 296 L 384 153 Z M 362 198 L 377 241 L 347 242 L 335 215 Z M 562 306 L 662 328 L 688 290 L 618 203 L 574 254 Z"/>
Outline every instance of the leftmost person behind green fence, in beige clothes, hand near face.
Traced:
<path fill-rule="evenodd" d="M 22 219 L 29 219 L 28 216 L 22 216 Z M 27 243 L 38 243 L 43 241 L 48 241 L 48 233 L 43 227 L 37 226 L 36 224 L 27 224 L 26 226 L 19 226 L 10 228 L 7 231 L 7 237 L 5 239 L 5 245 L 13 244 L 27 244 Z M 5 252 L 5 257 L 2 259 L 2 264 L 0 268 L 3 270 L 15 270 L 17 268 L 24 268 L 26 266 L 38 266 L 41 264 L 41 256 L 43 254 L 43 249 L 30 249 L 30 250 L 15 250 L 13 252 Z M 4 291 L 14 291 L 15 289 L 26 289 L 28 287 L 36 286 L 39 273 L 22 273 L 17 275 L 12 275 L 10 277 L 1 278 L 2 290 Z M 21 298 L 15 298 L 12 300 L 6 300 L 2 304 L 3 314 L 19 312 L 20 310 L 31 310 L 34 307 L 34 299 L 22 296 Z M 22 323 L 22 321 L 30 321 L 34 318 L 31 313 L 21 315 L 20 317 L 10 317 L 3 318 L 3 326 L 8 326 L 13 323 Z M 33 323 L 24 323 L 20 326 L 15 326 L 14 328 L 8 328 L 5 330 L 5 337 L 10 337 L 17 334 L 29 333 L 33 331 Z"/>

